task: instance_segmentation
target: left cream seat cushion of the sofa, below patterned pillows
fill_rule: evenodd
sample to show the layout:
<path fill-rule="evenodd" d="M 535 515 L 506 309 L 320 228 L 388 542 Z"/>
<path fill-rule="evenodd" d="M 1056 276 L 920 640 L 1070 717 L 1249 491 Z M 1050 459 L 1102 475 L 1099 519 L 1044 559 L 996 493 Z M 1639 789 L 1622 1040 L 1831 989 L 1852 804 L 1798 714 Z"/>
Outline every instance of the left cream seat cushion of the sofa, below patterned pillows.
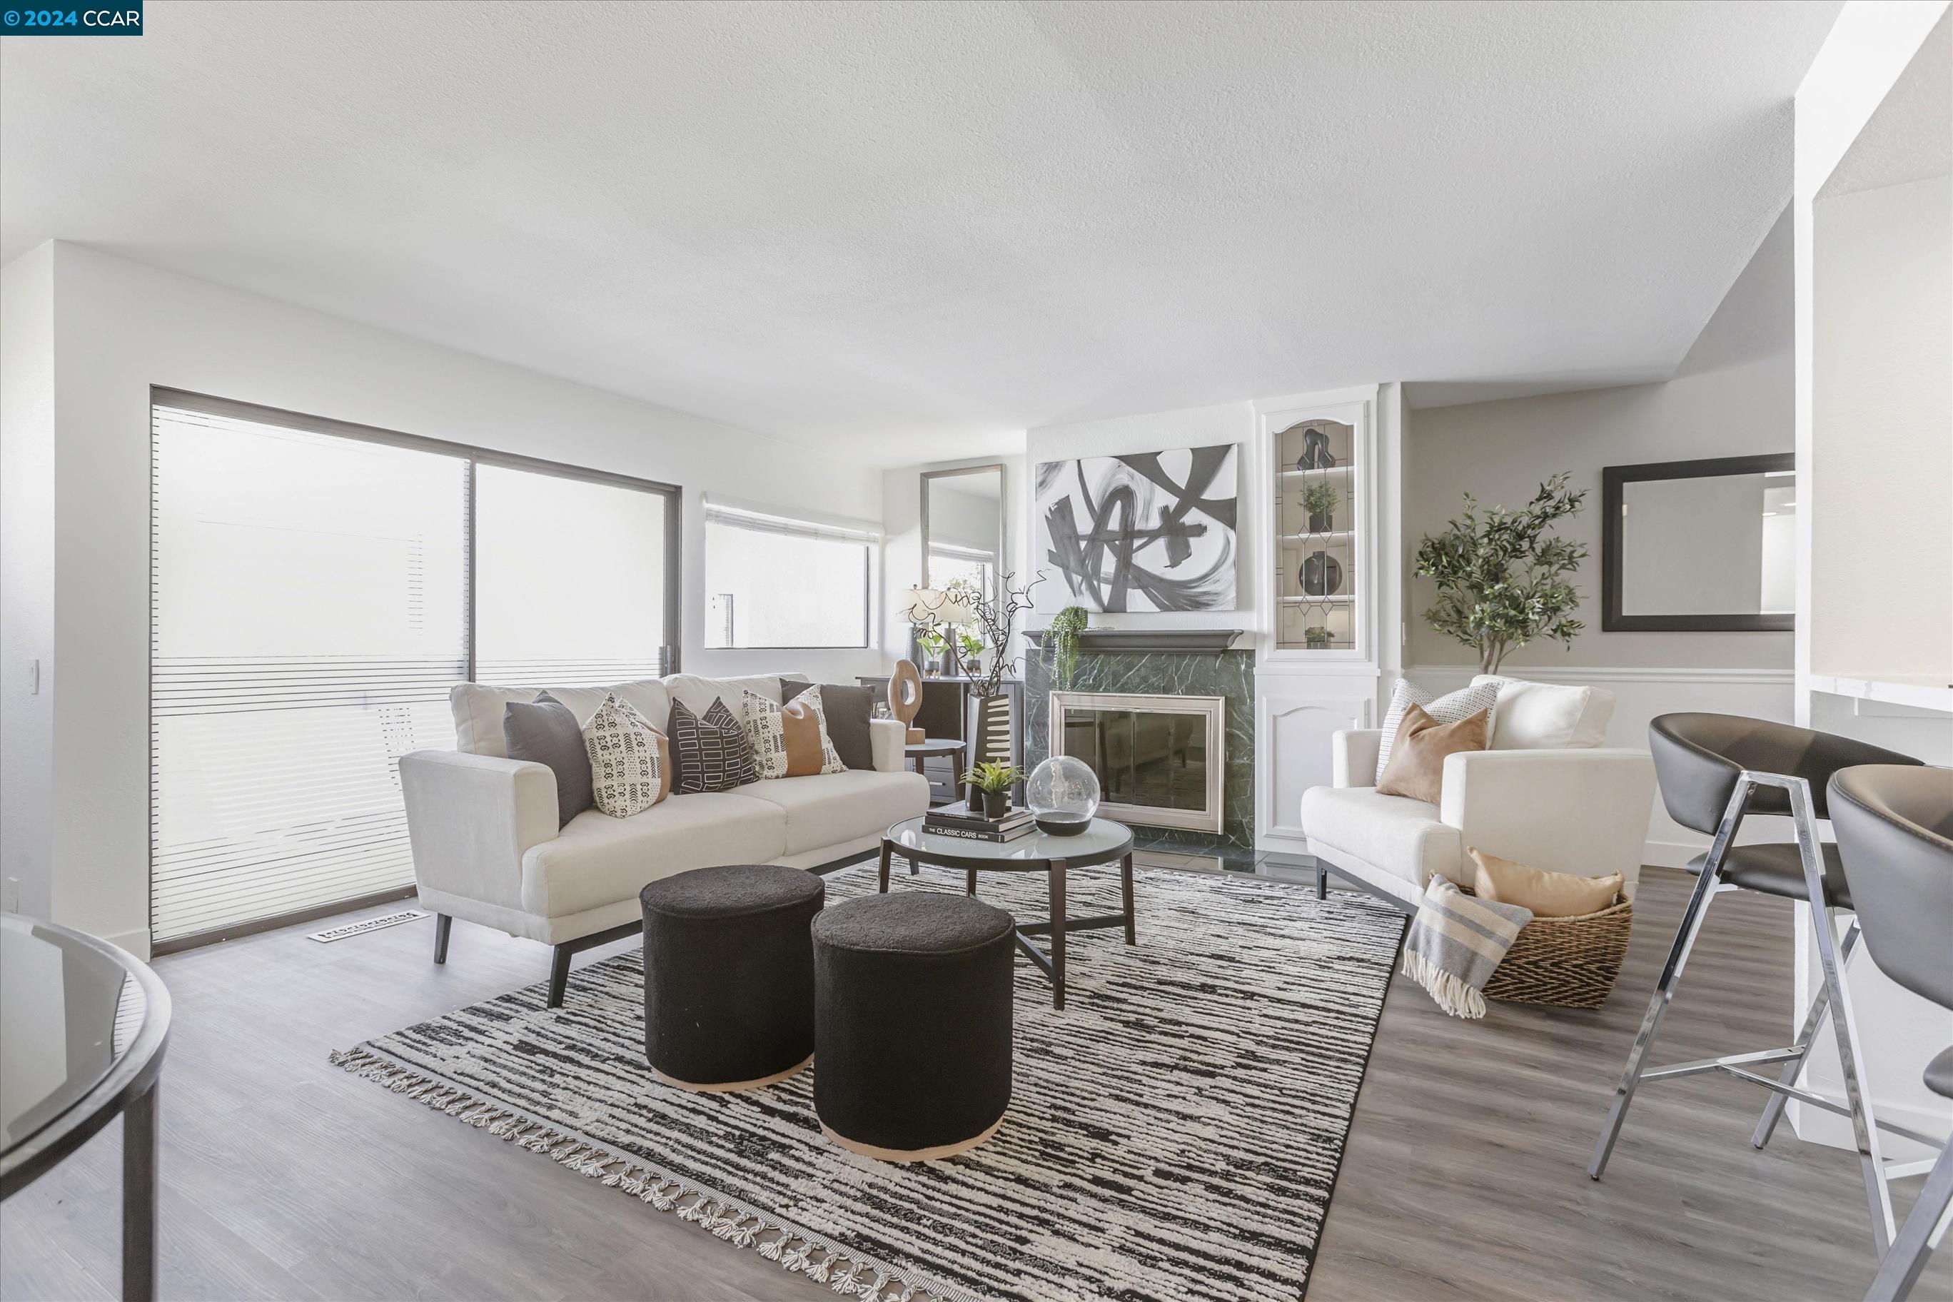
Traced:
<path fill-rule="evenodd" d="M 785 828 L 777 804 L 734 793 L 670 796 L 631 818 L 584 810 L 523 855 L 521 906 L 562 917 L 635 900 L 648 882 L 686 869 L 768 863 L 785 853 Z"/>

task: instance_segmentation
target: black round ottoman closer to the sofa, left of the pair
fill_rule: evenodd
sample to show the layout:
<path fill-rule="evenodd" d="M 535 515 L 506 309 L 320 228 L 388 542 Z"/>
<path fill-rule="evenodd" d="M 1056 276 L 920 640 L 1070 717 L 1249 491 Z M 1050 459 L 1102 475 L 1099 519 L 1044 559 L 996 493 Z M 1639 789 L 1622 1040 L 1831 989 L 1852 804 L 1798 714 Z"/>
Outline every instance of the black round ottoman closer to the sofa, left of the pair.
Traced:
<path fill-rule="evenodd" d="M 682 1089 L 752 1089 L 814 1054 L 814 953 L 826 900 L 779 865 L 693 869 L 639 892 L 644 906 L 644 1056 Z"/>

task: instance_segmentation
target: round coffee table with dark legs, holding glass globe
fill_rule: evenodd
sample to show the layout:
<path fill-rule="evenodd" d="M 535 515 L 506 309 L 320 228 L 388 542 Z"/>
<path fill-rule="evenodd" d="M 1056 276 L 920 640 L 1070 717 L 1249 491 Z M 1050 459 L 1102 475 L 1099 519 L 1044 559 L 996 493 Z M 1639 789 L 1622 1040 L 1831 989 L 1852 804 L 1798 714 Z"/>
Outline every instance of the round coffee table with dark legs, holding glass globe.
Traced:
<path fill-rule="evenodd" d="M 1064 935 L 1068 931 L 1125 927 L 1125 943 L 1139 945 L 1139 931 L 1133 923 L 1133 830 L 1109 818 L 1094 818 L 1092 826 L 1078 835 L 1029 832 L 1016 841 L 973 841 L 955 835 L 935 835 L 922 830 L 920 818 L 906 818 L 889 828 L 881 837 L 883 892 L 889 890 L 889 859 L 894 855 L 908 859 L 910 869 L 918 863 L 963 869 L 967 873 L 965 890 L 969 894 L 976 894 L 978 873 L 1043 873 L 1051 919 L 1021 923 L 1018 927 L 1018 947 L 1051 980 L 1051 1007 L 1055 1009 L 1064 1007 Z M 1113 863 L 1115 859 L 1119 861 L 1121 910 L 1092 917 L 1066 917 L 1066 869 L 1090 869 Z M 1049 935 L 1051 953 L 1037 949 L 1031 943 L 1033 935 Z"/>

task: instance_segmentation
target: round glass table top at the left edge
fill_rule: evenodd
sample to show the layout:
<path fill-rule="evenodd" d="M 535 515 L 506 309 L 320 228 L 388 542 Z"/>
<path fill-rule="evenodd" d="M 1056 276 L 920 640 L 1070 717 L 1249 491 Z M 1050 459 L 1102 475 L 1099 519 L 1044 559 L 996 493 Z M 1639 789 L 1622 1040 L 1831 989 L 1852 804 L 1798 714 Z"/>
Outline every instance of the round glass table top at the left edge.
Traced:
<path fill-rule="evenodd" d="M 135 962 L 0 914 L 0 1156 L 86 1099 L 137 1044 L 152 1009 Z"/>

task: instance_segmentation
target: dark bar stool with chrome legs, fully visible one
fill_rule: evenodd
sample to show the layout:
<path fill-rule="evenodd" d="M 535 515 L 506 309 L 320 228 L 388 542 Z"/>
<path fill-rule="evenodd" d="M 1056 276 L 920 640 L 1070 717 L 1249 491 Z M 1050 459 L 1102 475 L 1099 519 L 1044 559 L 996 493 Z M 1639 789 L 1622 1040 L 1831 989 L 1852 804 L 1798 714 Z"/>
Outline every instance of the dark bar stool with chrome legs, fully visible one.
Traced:
<path fill-rule="evenodd" d="M 1621 1122 L 1627 1119 L 1635 1089 L 1642 1081 L 1726 1072 L 1773 1093 L 1750 1136 L 1758 1148 L 1769 1142 L 1769 1132 L 1775 1128 L 1777 1117 L 1783 1115 L 1785 1099 L 1851 1119 L 1859 1165 L 1865 1173 L 1865 1199 L 1871 1204 L 1873 1240 L 1885 1253 L 1887 1243 L 1892 1241 L 1894 1226 L 1892 1197 L 1887 1187 L 1891 1175 L 1879 1152 L 1879 1126 L 1912 1140 L 1928 1144 L 1933 1140 L 1891 1122 L 1879 1122 L 1873 1117 L 1871 1097 L 1861 1081 L 1863 1054 L 1857 1046 L 1857 1025 L 1851 1017 L 1844 974 L 1846 960 L 1857 945 L 1859 923 L 1853 917 L 1844 941 L 1838 939 L 1832 914 L 1851 912 L 1851 888 L 1838 847 L 1818 839 L 1818 820 L 1830 818 L 1826 787 L 1840 769 L 1867 763 L 1918 767 L 1920 761 L 1853 738 L 1740 714 L 1662 714 L 1648 724 L 1648 750 L 1654 752 L 1654 775 L 1668 816 L 1683 828 L 1713 834 L 1715 841 L 1707 853 L 1689 863 L 1689 873 L 1695 873 L 1699 880 L 1682 912 L 1682 925 L 1676 929 L 1668 962 L 1662 964 L 1662 976 L 1654 982 L 1654 997 L 1648 999 L 1648 1011 L 1641 1019 L 1635 1048 L 1627 1054 L 1627 1070 L 1621 1072 L 1621 1083 L 1613 1089 L 1613 1105 L 1607 1109 L 1607 1124 L 1594 1146 L 1588 1175 L 1600 1179 L 1601 1171 L 1607 1169 L 1613 1142 L 1621 1134 Z M 1736 845 L 1736 832 L 1746 814 L 1787 814 L 1797 832 L 1797 843 Z M 1812 939 L 1824 968 L 1824 988 L 1810 1001 L 1797 1042 L 1787 1048 L 1701 1058 L 1648 1070 L 1648 1048 L 1662 1025 L 1662 1013 L 1674 999 L 1682 968 L 1689 960 L 1703 915 L 1709 912 L 1709 900 L 1723 890 L 1756 890 L 1810 904 Z M 1838 1035 L 1838 1058 L 1844 1064 L 1844 1107 L 1797 1085 L 1805 1056 L 1826 1017 Z M 1771 1064 L 1781 1064 L 1777 1079 L 1762 1074 Z"/>

